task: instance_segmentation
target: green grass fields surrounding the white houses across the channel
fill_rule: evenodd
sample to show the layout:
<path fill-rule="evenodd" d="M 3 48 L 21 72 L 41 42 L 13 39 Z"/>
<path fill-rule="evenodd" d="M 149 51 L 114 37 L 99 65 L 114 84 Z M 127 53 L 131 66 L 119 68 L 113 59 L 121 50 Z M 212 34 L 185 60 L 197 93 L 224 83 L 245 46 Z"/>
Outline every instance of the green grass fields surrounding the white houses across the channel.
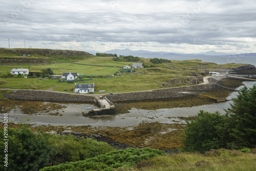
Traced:
<path fill-rule="evenodd" d="M 1 55 L 0 55 L 1 56 Z M 42 56 L 40 56 L 42 57 Z M 93 78 L 92 81 L 82 81 L 77 83 L 95 83 L 95 89 L 105 90 L 107 93 L 122 93 L 160 89 L 160 85 L 169 79 L 174 78 L 187 78 L 193 76 L 193 73 L 204 72 L 205 70 L 217 71 L 222 68 L 234 68 L 242 66 L 243 64 L 227 63 L 226 65 L 216 65 L 212 62 L 202 62 L 201 60 L 171 60 L 172 63 L 156 64 L 153 68 L 145 68 L 143 70 L 137 69 L 135 73 L 123 73 L 112 78 Z M 146 65 L 152 65 L 150 59 L 140 58 L 140 61 Z M 30 72 L 40 72 L 42 69 L 51 68 L 54 74 L 61 75 L 63 72 L 77 72 L 78 74 L 88 75 L 112 75 L 120 70 L 116 66 L 133 65 L 133 62 L 113 61 L 112 57 L 90 57 L 76 61 L 76 63 L 100 65 L 100 66 L 87 66 L 75 63 L 53 63 L 46 65 L 8 65 L 1 66 L 0 72 L 2 74 L 11 71 L 12 68 L 28 68 Z M 114 66 L 114 67 L 104 67 Z M 87 79 L 87 78 L 84 78 Z M 54 91 L 72 92 L 75 83 L 57 82 L 57 79 L 38 79 L 38 78 L 1 78 L 0 88 L 8 89 L 33 89 L 33 90 L 47 90 L 54 88 Z"/>

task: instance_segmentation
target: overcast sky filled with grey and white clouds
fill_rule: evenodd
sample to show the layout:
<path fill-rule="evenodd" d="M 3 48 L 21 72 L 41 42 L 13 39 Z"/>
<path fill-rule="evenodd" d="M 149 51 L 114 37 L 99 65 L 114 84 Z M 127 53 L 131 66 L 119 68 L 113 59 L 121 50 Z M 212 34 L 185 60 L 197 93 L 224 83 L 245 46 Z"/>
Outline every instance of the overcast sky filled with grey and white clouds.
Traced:
<path fill-rule="evenodd" d="M 256 52 L 256 2 L 0 0 L 0 47 Z"/>

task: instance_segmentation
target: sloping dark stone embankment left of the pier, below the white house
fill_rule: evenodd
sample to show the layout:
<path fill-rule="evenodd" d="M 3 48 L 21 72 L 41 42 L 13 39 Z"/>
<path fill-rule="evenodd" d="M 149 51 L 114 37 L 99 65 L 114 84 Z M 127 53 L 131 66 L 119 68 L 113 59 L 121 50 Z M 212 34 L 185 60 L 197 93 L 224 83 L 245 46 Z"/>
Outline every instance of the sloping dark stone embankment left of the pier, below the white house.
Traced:
<path fill-rule="evenodd" d="M 52 101 L 52 102 L 96 102 L 92 96 L 79 94 L 56 93 L 36 90 L 15 90 L 4 94 L 5 98 L 30 101 Z"/>

